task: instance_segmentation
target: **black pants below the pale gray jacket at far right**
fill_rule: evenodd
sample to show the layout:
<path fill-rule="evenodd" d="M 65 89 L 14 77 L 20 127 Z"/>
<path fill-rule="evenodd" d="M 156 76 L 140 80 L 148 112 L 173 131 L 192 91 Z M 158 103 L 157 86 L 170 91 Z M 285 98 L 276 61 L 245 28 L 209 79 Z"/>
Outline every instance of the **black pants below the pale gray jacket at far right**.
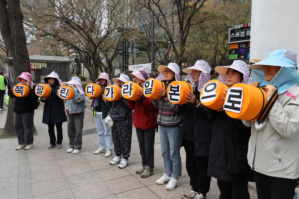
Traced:
<path fill-rule="evenodd" d="M 293 199 L 297 179 L 271 177 L 253 171 L 259 199 Z"/>

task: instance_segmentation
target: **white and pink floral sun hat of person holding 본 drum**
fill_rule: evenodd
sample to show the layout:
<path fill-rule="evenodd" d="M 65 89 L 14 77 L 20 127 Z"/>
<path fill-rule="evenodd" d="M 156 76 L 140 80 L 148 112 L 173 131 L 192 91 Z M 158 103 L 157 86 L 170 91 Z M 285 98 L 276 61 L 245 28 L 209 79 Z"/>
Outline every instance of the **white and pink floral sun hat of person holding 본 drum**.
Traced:
<path fill-rule="evenodd" d="M 185 81 L 190 81 L 191 85 L 195 86 L 195 83 L 193 82 L 192 75 L 191 75 L 192 69 L 201 71 L 201 74 L 200 74 L 200 77 L 199 77 L 199 83 L 198 83 L 198 87 L 197 87 L 198 91 L 201 92 L 203 86 L 207 82 L 209 82 L 210 79 L 211 79 L 211 76 L 210 76 L 211 67 L 208 64 L 208 62 L 206 62 L 204 60 L 197 60 L 194 66 L 182 69 L 182 71 L 184 73 L 188 73 L 188 75 L 185 78 Z"/>

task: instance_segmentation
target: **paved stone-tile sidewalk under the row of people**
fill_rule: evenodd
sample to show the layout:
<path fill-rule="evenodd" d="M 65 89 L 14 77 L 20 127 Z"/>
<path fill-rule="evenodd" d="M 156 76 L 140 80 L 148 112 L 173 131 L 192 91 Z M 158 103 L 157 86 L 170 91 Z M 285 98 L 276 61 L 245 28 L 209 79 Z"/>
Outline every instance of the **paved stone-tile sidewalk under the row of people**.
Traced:
<path fill-rule="evenodd" d="M 0 112 L 0 128 L 4 127 L 6 113 L 7 110 Z M 66 122 L 63 123 L 63 148 L 47 149 L 48 128 L 42 124 L 42 117 L 43 106 L 40 105 L 34 116 L 38 135 L 34 136 L 33 149 L 16 151 L 17 138 L 0 140 L 0 198 L 181 198 L 190 189 L 183 148 L 180 185 L 169 191 L 166 185 L 155 183 L 164 172 L 159 133 L 155 136 L 155 173 L 141 178 L 135 174 L 141 167 L 141 156 L 134 127 L 129 165 L 119 169 L 118 165 L 109 164 L 114 153 L 111 157 L 93 153 L 98 148 L 98 139 L 92 111 L 85 110 L 83 145 L 78 154 L 66 152 L 69 148 Z M 207 198 L 219 198 L 216 182 L 212 178 Z M 249 183 L 248 189 L 251 198 L 256 199 L 255 184 Z"/>

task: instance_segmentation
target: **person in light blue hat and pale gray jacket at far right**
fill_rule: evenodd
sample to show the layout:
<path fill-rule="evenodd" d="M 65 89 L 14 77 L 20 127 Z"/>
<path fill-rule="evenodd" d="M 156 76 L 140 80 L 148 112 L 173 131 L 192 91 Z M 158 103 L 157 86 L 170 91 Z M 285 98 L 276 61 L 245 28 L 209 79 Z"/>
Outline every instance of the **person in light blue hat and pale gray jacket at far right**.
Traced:
<path fill-rule="evenodd" d="M 250 66 L 250 85 L 265 86 L 267 101 L 278 94 L 264 121 L 251 126 L 248 164 L 253 169 L 259 199 L 293 199 L 299 177 L 299 75 L 297 55 L 277 49 Z"/>

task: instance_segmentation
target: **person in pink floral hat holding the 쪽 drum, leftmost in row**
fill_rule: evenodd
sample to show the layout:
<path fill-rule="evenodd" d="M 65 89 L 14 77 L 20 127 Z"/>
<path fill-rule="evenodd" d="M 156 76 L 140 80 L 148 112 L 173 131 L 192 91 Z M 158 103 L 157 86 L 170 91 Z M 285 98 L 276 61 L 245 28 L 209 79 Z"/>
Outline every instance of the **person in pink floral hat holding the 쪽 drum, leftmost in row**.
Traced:
<path fill-rule="evenodd" d="M 16 150 L 29 150 L 33 148 L 33 116 L 38 96 L 35 94 L 35 84 L 32 83 L 30 73 L 23 72 L 17 77 L 17 80 L 29 88 L 29 94 L 26 97 L 17 97 L 13 90 L 9 92 L 10 98 L 16 98 L 14 101 L 14 130 L 16 132 L 19 146 Z"/>

